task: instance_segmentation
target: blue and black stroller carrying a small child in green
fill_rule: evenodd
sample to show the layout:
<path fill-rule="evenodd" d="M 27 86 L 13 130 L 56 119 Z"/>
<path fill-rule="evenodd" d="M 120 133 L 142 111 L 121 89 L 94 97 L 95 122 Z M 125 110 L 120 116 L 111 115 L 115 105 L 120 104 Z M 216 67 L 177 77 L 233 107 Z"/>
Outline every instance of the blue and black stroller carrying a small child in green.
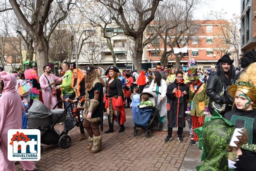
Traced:
<path fill-rule="evenodd" d="M 138 112 L 134 115 L 134 136 L 140 135 L 140 130 L 136 128 L 143 128 L 146 131 L 146 137 L 149 138 L 152 136 L 151 129 L 157 126 L 157 129 L 161 131 L 163 129 L 163 123 L 160 121 L 160 114 L 159 114 L 159 106 L 157 107 L 157 91 L 153 92 L 143 92 L 140 94 L 140 101 L 141 96 L 143 94 L 147 94 L 149 96 L 149 100 L 152 101 L 153 107 L 143 107 L 140 108 L 138 106 Z M 161 94 L 161 93 L 159 93 Z"/>

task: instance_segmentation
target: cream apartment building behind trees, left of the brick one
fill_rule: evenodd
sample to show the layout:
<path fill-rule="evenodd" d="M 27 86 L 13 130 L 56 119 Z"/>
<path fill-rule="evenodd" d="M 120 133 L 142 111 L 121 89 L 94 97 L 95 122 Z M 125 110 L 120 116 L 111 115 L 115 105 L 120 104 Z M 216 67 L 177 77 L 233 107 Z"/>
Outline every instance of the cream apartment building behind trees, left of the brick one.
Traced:
<path fill-rule="evenodd" d="M 84 34 L 82 38 L 91 35 L 84 43 L 79 55 L 79 67 L 83 69 L 86 65 L 93 64 L 106 69 L 113 65 L 111 49 L 108 47 L 107 38 L 104 38 L 104 30 L 100 27 L 94 27 L 87 29 Z M 111 37 L 110 41 L 116 58 L 116 66 L 119 69 L 132 70 L 134 41 L 125 36 L 123 30 L 114 23 L 105 29 L 105 35 Z M 143 61 L 143 63 L 145 62 L 146 60 Z"/>

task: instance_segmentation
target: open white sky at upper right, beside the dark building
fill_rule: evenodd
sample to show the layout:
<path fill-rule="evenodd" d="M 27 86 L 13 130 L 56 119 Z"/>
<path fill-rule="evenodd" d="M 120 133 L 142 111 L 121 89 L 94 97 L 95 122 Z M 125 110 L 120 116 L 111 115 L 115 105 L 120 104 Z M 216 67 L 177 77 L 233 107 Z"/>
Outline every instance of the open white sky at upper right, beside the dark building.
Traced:
<path fill-rule="evenodd" d="M 232 14 L 236 13 L 240 15 L 240 3 L 241 0 L 205 0 L 206 3 L 201 4 L 198 9 L 195 10 L 195 19 L 204 20 L 209 17 L 209 12 L 221 11 L 224 9 L 226 19 L 230 19 Z"/>

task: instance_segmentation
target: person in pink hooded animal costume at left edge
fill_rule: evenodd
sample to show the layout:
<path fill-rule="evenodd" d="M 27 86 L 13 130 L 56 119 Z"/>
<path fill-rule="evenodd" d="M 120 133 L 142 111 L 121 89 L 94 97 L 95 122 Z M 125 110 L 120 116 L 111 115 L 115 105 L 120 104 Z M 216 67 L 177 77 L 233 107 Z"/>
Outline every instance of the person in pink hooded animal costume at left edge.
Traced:
<path fill-rule="evenodd" d="M 6 71 L 0 72 L 4 87 L 0 97 L 0 171 L 15 171 L 15 161 L 8 160 L 7 137 L 9 129 L 20 129 L 24 107 L 20 95 L 15 91 L 17 79 Z M 34 162 L 20 161 L 25 171 L 37 168 Z"/>

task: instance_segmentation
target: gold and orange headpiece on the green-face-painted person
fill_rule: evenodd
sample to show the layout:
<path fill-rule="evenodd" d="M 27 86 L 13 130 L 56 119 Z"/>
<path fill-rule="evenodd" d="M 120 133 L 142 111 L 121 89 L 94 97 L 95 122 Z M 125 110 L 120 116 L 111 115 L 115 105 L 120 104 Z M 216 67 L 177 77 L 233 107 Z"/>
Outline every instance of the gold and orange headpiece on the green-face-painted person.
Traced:
<path fill-rule="evenodd" d="M 235 84 L 232 84 L 228 88 L 228 92 L 230 93 L 230 96 L 233 97 L 233 99 L 236 98 L 236 91 L 243 92 L 246 96 L 250 97 L 250 99 L 254 102 L 253 108 L 256 108 L 256 87 L 249 82 L 236 82 Z"/>

